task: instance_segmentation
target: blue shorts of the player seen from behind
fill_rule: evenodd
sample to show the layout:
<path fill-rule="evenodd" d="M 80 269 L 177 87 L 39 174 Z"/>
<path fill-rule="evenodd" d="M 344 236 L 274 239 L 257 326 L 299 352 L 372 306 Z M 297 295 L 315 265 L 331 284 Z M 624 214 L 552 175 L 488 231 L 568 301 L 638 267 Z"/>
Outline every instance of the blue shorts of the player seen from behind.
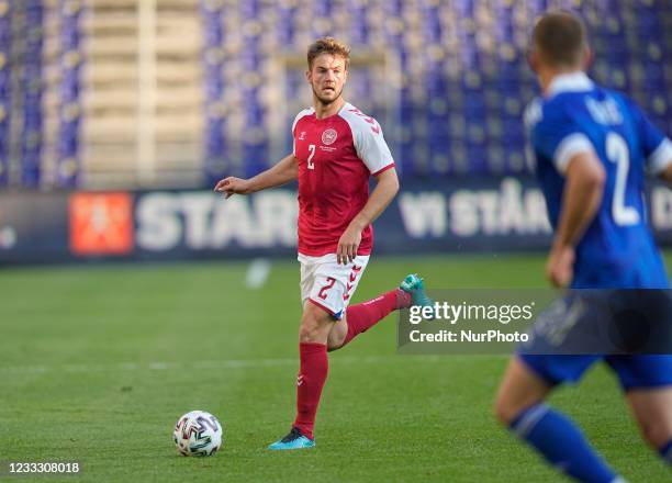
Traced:
<path fill-rule="evenodd" d="M 624 390 L 672 385 L 672 292 L 573 291 L 540 314 L 518 357 L 550 384 L 606 362 Z"/>

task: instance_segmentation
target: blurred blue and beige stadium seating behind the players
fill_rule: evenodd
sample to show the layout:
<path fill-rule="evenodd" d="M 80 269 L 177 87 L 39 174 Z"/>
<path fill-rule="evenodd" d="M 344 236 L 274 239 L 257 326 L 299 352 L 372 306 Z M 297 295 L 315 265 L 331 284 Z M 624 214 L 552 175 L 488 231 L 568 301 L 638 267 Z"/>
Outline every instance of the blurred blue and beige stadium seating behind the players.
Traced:
<path fill-rule="evenodd" d="M 548 8 L 583 15 L 591 74 L 672 134 L 665 1 L 81 0 L 78 16 L 56 0 L 3 14 L 10 3 L 0 184 L 205 186 L 259 172 L 291 149 L 310 103 L 305 48 L 326 34 L 351 44 L 348 99 L 381 122 L 404 177 L 522 172 L 520 116 L 537 93 L 525 50 Z M 12 44 L 2 22 L 18 18 L 44 42 Z M 14 83 L 1 61 L 12 55 Z"/>

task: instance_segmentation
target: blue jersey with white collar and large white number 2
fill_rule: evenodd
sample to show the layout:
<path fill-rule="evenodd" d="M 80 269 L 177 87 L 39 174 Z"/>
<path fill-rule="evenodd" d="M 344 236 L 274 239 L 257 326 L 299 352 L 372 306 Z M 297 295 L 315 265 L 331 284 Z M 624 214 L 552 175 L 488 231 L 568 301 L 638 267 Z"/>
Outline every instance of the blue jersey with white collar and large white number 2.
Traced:
<path fill-rule="evenodd" d="M 645 175 L 672 160 L 672 143 L 621 94 L 584 74 L 557 77 L 526 124 L 549 220 L 557 227 L 570 159 L 592 151 L 606 171 L 600 210 L 576 246 L 574 289 L 664 289 L 665 269 L 643 200 Z"/>

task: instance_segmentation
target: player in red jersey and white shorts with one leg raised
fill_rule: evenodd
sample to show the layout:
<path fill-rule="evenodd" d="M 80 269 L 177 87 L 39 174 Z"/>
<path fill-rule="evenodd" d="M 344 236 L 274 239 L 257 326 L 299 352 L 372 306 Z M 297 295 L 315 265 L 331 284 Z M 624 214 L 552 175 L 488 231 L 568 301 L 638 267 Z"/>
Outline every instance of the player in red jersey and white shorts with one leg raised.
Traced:
<path fill-rule="evenodd" d="M 303 317 L 298 414 L 270 449 L 315 446 L 313 427 L 326 381 L 327 351 L 340 349 L 394 310 L 432 305 L 422 279 L 348 307 L 373 245 L 371 223 L 399 191 L 394 160 L 380 125 L 343 97 L 350 49 L 325 37 L 309 47 L 313 106 L 296 115 L 293 153 L 250 179 L 225 178 L 215 191 L 248 194 L 299 179 L 299 261 Z M 369 195 L 369 177 L 377 184 Z"/>

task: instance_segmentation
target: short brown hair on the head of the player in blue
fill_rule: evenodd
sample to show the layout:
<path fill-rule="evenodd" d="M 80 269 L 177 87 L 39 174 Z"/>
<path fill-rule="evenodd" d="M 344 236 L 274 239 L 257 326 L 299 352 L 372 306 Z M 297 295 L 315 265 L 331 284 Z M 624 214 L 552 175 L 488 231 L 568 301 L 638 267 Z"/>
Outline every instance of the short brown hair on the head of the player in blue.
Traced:
<path fill-rule="evenodd" d="M 583 22 L 565 10 L 541 16 L 533 33 L 534 48 L 541 59 L 551 66 L 574 67 L 581 63 L 587 48 L 587 35 Z"/>

